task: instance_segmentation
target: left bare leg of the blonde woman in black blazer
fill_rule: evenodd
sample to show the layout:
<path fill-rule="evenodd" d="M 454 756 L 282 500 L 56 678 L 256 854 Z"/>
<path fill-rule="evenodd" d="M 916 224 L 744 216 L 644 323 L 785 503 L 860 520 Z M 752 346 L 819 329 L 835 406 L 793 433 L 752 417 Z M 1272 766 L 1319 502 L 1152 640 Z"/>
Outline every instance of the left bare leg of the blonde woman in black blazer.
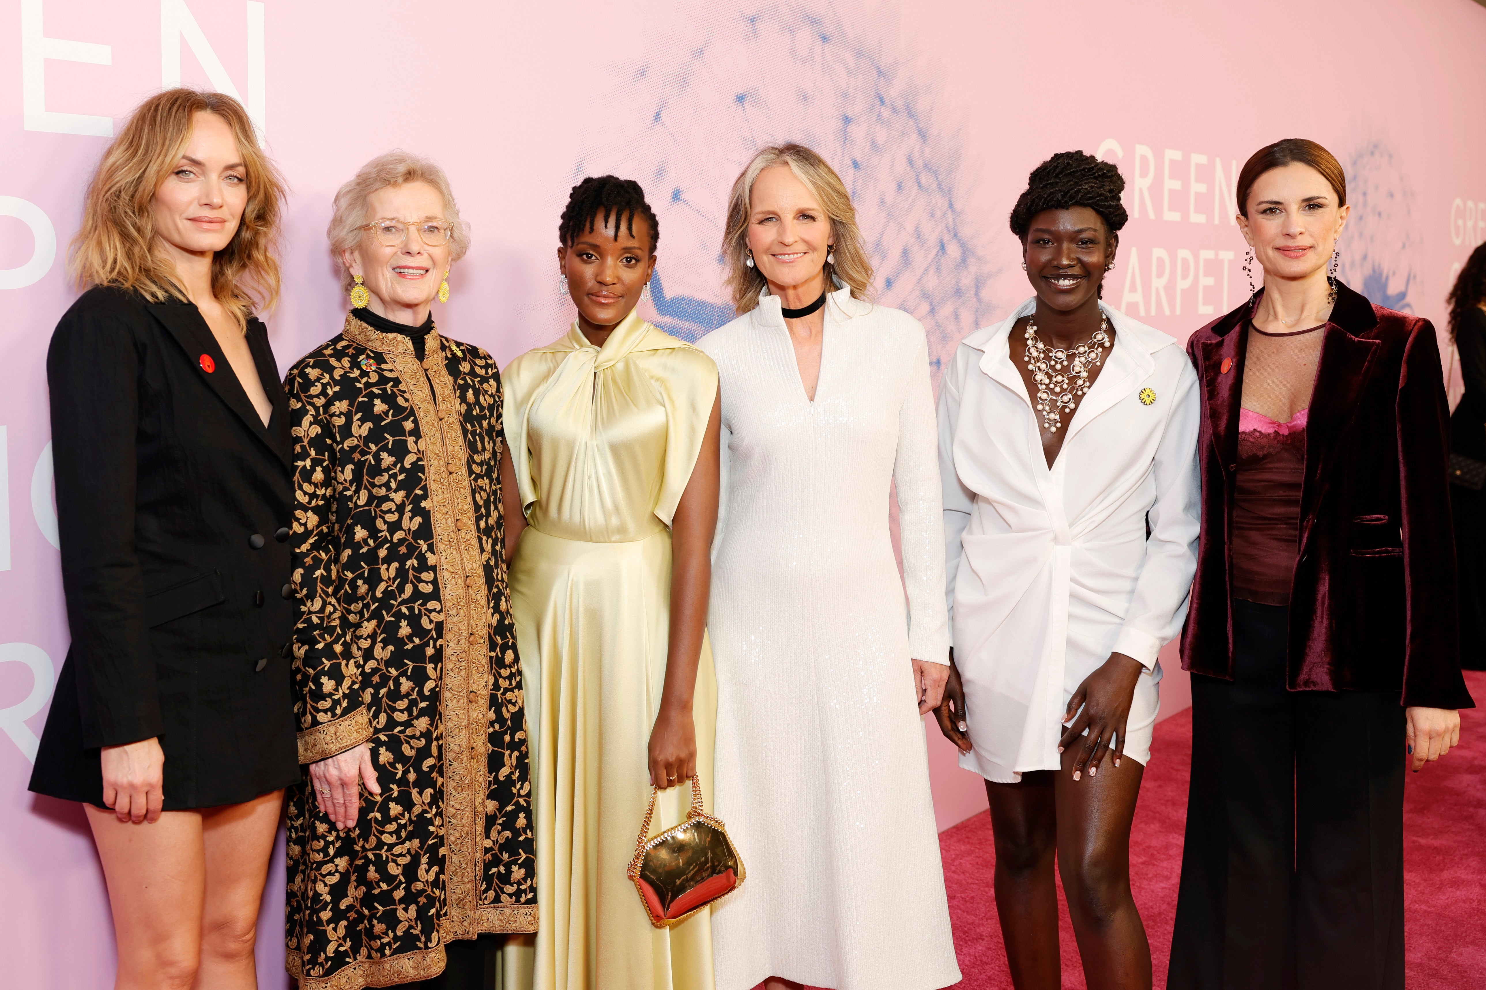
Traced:
<path fill-rule="evenodd" d="M 83 804 L 108 882 L 119 943 L 114 990 L 190 990 L 201 962 L 207 862 L 201 815 L 162 812 L 135 825 Z"/>

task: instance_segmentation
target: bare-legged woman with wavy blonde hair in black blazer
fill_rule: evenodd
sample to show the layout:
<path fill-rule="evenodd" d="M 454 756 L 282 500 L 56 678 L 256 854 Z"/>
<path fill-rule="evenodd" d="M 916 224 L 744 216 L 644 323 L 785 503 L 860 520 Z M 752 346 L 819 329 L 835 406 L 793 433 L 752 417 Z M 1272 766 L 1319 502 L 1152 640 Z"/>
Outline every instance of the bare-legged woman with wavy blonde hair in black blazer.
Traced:
<path fill-rule="evenodd" d="M 282 793 L 290 429 L 245 286 L 282 184 L 242 107 L 174 89 L 104 153 L 46 371 L 71 649 L 31 790 L 83 801 L 119 987 L 248 989 Z"/>

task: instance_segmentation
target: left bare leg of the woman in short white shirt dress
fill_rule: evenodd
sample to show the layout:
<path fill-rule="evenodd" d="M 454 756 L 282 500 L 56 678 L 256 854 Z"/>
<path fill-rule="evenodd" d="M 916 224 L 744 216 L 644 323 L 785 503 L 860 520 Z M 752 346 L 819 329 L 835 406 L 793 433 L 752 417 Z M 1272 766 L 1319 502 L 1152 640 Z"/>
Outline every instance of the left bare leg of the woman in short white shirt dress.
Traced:
<path fill-rule="evenodd" d="M 996 913 L 1016 990 L 1058 990 L 1058 849 L 1054 775 L 1022 773 L 1019 784 L 985 782 L 996 836 Z"/>

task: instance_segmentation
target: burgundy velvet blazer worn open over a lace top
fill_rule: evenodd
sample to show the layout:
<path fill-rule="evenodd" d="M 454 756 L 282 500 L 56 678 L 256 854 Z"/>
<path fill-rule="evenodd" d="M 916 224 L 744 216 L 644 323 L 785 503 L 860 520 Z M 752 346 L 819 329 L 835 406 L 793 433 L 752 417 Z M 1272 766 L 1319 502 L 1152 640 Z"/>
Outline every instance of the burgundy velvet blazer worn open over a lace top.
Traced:
<path fill-rule="evenodd" d="M 1306 419 L 1291 690 L 1400 692 L 1473 708 L 1456 641 L 1449 410 L 1427 319 L 1337 283 Z M 1233 471 L 1244 346 L 1257 297 L 1187 341 L 1202 393 L 1202 534 L 1181 666 L 1232 680 Z"/>

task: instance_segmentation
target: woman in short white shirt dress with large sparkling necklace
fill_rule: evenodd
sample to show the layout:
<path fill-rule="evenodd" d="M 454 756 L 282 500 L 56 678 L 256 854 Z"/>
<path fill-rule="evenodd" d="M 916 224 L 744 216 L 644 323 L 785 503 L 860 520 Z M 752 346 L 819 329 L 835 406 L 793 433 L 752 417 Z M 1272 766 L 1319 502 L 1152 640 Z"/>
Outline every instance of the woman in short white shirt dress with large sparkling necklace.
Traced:
<path fill-rule="evenodd" d="M 1119 194 L 1064 151 L 1012 211 L 1036 295 L 966 337 L 939 389 L 954 665 L 936 711 L 985 778 L 1012 980 L 1060 987 L 1054 861 L 1091 987 L 1150 987 L 1129 830 L 1161 665 L 1196 568 L 1196 374 L 1100 303 Z"/>

